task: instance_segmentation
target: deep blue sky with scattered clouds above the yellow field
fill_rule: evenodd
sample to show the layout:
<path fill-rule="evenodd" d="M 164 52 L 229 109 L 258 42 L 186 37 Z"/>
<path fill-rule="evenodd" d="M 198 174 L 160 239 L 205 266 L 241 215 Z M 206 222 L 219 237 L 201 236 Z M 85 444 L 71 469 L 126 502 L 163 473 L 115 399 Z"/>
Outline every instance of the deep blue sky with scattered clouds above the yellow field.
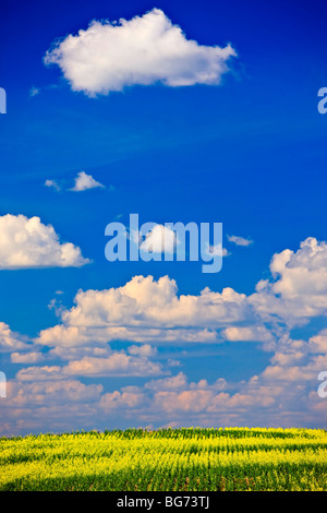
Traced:
<path fill-rule="evenodd" d="M 169 84 L 181 80 L 180 69 L 190 76 L 204 65 L 180 55 L 169 76 L 144 85 L 138 55 L 130 61 L 123 56 L 122 70 L 121 60 L 109 62 L 99 50 L 112 67 L 106 87 L 112 88 L 114 73 L 123 85 L 90 96 L 89 76 L 94 87 L 102 81 L 94 47 L 77 56 L 75 75 L 70 49 L 59 62 L 45 64 L 53 41 L 76 37 L 93 20 L 129 22 L 155 8 L 181 27 L 185 40 L 206 47 L 207 56 L 208 48 L 230 44 L 237 57 L 218 73 L 219 84 Z M 3 8 L 0 363 L 9 379 L 8 397 L 0 399 L 3 434 L 131 422 L 324 426 L 327 403 L 316 390 L 327 366 L 327 116 L 317 110 L 318 90 L 327 86 L 325 17 L 323 1 L 32 1 Z M 132 52 L 137 31 L 131 32 Z M 110 45 L 119 51 L 121 40 L 112 34 Z M 159 72 L 166 65 L 160 59 L 155 55 Z M 136 79 L 129 85 L 124 77 L 132 68 Z M 81 171 L 105 187 L 70 190 Z M 46 180 L 56 187 L 46 187 Z M 128 225 L 131 213 L 138 213 L 141 223 L 221 222 L 230 253 L 221 272 L 203 274 L 199 262 L 109 263 L 105 227 L 118 218 Z M 22 244 L 24 260 L 25 223 L 34 216 L 41 224 L 35 229 L 49 237 L 51 255 L 34 258 L 40 244 L 35 239 L 29 264 L 12 265 L 8 234 L 15 251 Z M 253 242 L 239 246 L 228 235 Z M 74 248 L 71 263 L 53 264 L 53 251 L 66 242 Z M 135 276 L 144 277 L 144 286 L 141 281 L 131 293 L 126 284 Z M 268 282 L 256 288 L 262 281 Z M 205 288 L 210 296 L 203 303 Z M 223 289 L 232 290 L 232 298 L 220 296 Z M 100 306 L 81 296 L 74 313 L 78 290 L 97 290 Z M 120 311 L 118 290 L 137 308 Z M 181 296 L 190 296 L 192 307 Z M 100 327 L 97 315 L 106 318 Z M 129 331 L 136 325 L 137 335 Z M 109 334 L 112 326 L 126 335 Z M 84 371 L 86 363 L 92 371 Z"/>

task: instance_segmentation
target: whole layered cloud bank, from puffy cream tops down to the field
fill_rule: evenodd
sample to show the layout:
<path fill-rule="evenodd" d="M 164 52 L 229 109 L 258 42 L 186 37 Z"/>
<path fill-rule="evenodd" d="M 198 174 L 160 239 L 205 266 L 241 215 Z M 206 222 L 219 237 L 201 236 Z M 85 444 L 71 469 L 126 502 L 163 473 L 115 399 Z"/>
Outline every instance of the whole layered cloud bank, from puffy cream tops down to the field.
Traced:
<path fill-rule="evenodd" d="M 326 427 L 326 399 L 317 394 L 317 377 L 327 369 L 327 330 L 304 341 L 292 339 L 289 329 L 301 326 L 311 314 L 327 317 L 326 259 L 326 242 L 312 238 L 298 251 L 277 253 L 271 279 L 259 282 L 251 296 L 231 288 L 178 295 L 168 276 L 158 281 L 136 276 L 122 287 L 80 291 L 75 307 L 61 312 L 62 323 L 41 332 L 37 342 L 50 347 L 44 356 L 0 323 L 0 348 L 14 351 L 13 363 L 34 366 L 9 380 L 2 433 L 39 431 L 40 426 L 71 430 L 72 422 L 76 428 L 93 422 L 97 426 L 92 427 L 101 422 L 107 427 L 111 411 L 117 422 L 132 419 L 158 427 Z M 112 351 L 107 339 L 143 345 Z M 157 351 L 153 347 L 158 339 L 172 341 L 174 347 L 181 341 L 257 341 L 274 354 L 266 368 L 250 379 L 227 381 L 217 368 L 216 381 L 190 382 L 184 372 L 166 372 L 169 360 L 164 367 L 160 346 Z M 157 356 L 159 361 L 153 361 Z M 37 367 L 45 359 L 56 365 Z M 66 362 L 58 365 L 58 359 Z M 72 379 L 77 375 L 144 375 L 150 381 L 104 393 L 101 385 L 86 386 Z"/>

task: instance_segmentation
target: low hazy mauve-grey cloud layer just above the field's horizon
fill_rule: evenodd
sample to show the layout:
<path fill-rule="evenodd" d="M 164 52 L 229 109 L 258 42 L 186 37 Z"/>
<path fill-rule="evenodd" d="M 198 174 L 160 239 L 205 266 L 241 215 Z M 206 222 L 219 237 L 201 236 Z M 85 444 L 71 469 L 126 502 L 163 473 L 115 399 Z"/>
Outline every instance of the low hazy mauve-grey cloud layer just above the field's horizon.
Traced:
<path fill-rule="evenodd" d="M 108 427 L 107 414 L 112 410 L 119 414 L 116 422 L 133 419 L 138 426 L 325 427 L 327 410 L 317 396 L 317 374 L 326 368 L 327 357 L 307 356 L 302 341 L 281 341 L 271 363 L 246 381 L 230 382 L 218 374 L 211 383 L 190 382 L 179 372 L 107 393 L 100 384 L 86 386 L 71 378 L 111 375 L 106 359 L 102 367 L 100 358 L 88 361 L 89 368 L 84 359 L 77 369 L 32 367 L 8 383 L 10 406 L 3 405 L 1 432 L 39 431 L 51 420 L 51 431 L 93 422 L 99 429 Z"/>

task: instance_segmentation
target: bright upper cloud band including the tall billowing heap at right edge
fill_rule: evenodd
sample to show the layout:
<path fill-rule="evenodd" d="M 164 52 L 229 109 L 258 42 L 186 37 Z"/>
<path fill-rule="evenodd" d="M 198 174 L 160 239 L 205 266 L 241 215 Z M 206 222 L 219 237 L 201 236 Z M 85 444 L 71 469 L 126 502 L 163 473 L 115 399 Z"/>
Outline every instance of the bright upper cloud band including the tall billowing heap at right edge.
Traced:
<path fill-rule="evenodd" d="M 275 254 L 271 281 L 250 296 L 232 288 L 179 295 L 168 276 L 134 276 L 125 285 L 78 291 L 75 307 L 61 309 L 61 323 L 44 330 L 48 346 L 104 345 L 110 341 L 222 343 L 262 342 L 271 350 L 291 326 L 327 315 L 327 244 L 307 239 L 298 252 Z M 325 276 L 326 275 L 326 279 Z M 326 283 L 325 283 L 326 282 Z"/>

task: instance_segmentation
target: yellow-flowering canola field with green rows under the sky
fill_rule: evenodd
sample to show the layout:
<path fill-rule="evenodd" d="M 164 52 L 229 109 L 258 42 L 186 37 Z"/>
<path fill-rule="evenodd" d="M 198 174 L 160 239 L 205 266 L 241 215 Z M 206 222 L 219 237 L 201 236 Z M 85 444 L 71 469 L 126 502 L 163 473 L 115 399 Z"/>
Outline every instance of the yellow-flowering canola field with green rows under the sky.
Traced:
<path fill-rule="evenodd" d="M 129 429 L 0 439 L 0 490 L 327 490 L 327 431 Z"/>

